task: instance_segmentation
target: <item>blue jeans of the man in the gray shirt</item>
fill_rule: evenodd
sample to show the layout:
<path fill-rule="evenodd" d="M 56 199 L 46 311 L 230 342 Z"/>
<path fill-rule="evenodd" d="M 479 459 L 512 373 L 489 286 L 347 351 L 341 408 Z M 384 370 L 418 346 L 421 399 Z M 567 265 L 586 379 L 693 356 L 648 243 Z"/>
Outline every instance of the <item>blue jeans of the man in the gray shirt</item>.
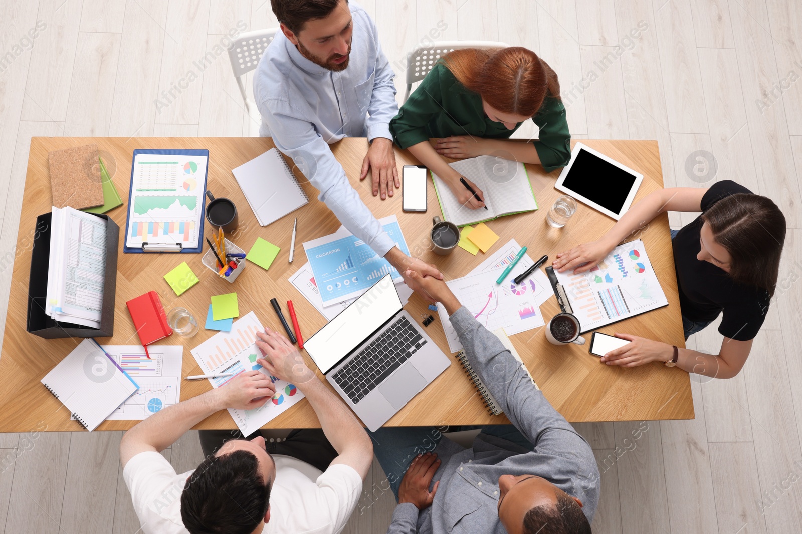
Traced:
<path fill-rule="evenodd" d="M 480 428 L 482 434 L 511 441 L 528 451 L 533 451 L 535 448 L 511 424 L 451 427 L 448 430 L 459 432 L 462 430 L 475 430 L 476 428 Z M 407 472 L 409 464 L 411 464 L 412 460 L 415 460 L 415 456 L 434 451 L 440 439 L 444 436 L 441 428 L 435 427 L 379 428 L 376 432 L 368 432 L 368 435 L 373 440 L 373 452 L 376 455 L 376 459 L 379 460 L 379 464 L 382 465 L 396 502 L 399 499 L 401 480 Z M 444 465 L 441 464 L 440 467 Z"/>

